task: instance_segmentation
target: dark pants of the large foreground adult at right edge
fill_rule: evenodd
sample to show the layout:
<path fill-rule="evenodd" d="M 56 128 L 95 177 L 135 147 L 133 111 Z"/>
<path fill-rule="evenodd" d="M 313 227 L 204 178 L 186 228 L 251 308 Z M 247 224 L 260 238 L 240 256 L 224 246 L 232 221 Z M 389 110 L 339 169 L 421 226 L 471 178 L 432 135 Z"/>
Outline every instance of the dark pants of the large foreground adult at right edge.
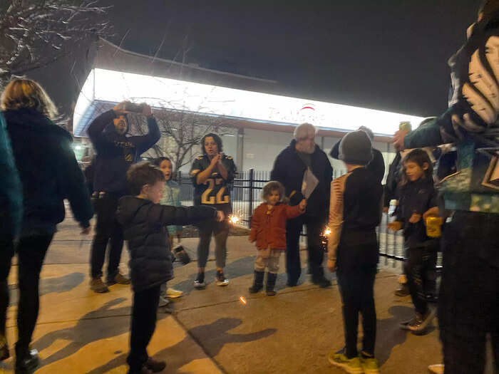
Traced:
<path fill-rule="evenodd" d="M 446 374 L 483 373 L 491 334 L 499 369 L 499 214 L 456 212 L 443 233 L 438 325 Z"/>

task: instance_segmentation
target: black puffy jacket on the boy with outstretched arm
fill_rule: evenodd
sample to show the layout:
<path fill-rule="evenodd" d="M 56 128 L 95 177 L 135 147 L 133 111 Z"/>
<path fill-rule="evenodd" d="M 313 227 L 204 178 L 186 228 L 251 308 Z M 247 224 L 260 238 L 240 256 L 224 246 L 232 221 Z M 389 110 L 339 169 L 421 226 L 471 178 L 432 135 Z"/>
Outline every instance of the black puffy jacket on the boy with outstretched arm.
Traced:
<path fill-rule="evenodd" d="M 150 289 L 173 278 L 168 225 L 194 224 L 216 216 L 212 207 L 170 207 L 138 197 L 122 197 L 116 218 L 128 240 L 133 291 Z"/>

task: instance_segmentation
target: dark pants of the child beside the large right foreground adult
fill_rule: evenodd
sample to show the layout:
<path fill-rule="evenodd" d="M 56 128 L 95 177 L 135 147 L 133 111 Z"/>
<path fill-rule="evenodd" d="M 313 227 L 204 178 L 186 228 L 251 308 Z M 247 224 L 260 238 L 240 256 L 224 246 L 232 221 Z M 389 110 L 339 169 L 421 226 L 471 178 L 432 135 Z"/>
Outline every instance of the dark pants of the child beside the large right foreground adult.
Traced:
<path fill-rule="evenodd" d="M 414 308 L 421 314 L 428 311 L 426 294 L 434 292 L 437 249 L 437 246 L 431 244 L 408 248 L 407 258 L 403 264 Z"/>

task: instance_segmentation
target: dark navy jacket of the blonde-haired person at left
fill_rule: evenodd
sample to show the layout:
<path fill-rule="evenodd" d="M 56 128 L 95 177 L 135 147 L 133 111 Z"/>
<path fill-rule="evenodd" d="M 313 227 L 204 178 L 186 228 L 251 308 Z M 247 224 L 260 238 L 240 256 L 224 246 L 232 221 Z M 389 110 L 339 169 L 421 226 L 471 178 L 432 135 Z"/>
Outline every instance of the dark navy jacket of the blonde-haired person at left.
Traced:
<path fill-rule="evenodd" d="M 81 227 L 88 227 L 93 211 L 71 135 L 34 109 L 6 110 L 3 114 L 23 185 L 21 234 L 55 232 L 56 224 L 64 219 L 63 199 L 69 200 Z"/>

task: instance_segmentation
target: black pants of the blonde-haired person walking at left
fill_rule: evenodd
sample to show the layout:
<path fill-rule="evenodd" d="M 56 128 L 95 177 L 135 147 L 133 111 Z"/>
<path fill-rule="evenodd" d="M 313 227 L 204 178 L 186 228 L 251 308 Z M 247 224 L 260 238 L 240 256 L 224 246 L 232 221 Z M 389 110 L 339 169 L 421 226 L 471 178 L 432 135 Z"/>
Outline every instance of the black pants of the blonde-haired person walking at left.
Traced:
<path fill-rule="evenodd" d="M 17 331 L 18 341 L 16 343 L 16 356 L 23 358 L 29 352 L 29 343 L 36 326 L 38 309 L 40 306 L 38 295 L 38 283 L 40 271 L 43 265 L 48 246 L 52 241 L 53 234 L 36 234 L 29 237 L 21 237 L 16 245 L 16 253 L 19 263 L 19 303 L 17 306 Z M 6 255 L 1 256 L 1 301 L 0 301 L 0 326 L 5 330 L 6 308 L 9 306 L 9 289 L 6 286 L 6 277 L 14 251 L 8 249 Z"/>

